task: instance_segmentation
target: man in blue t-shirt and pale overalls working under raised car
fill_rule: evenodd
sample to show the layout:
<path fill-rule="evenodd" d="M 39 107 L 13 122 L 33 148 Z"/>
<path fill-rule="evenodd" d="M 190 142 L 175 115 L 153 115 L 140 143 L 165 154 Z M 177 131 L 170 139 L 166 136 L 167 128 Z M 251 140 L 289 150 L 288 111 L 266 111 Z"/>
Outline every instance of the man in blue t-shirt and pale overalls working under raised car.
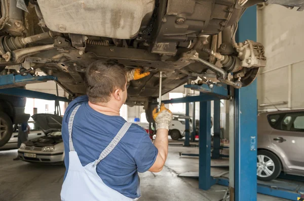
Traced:
<path fill-rule="evenodd" d="M 172 113 L 164 105 L 153 111 L 154 144 L 143 128 L 127 123 L 120 116 L 127 83 L 149 72 L 125 69 L 113 61 L 92 63 L 86 72 L 87 95 L 75 98 L 65 111 L 62 200 L 137 200 L 138 172 L 159 172 L 165 164 Z"/>

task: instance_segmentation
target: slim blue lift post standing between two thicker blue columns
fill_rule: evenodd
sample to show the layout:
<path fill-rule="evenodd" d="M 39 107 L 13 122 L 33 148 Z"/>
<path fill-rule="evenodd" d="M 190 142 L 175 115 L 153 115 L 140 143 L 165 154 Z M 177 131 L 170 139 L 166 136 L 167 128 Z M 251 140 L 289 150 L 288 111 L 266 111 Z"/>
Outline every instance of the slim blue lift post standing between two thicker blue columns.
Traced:
<path fill-rule="evenodd" d="M 213 102 L 213 150 L 212 159 L 220 158 L 220 100 L 214 100 Z"/>

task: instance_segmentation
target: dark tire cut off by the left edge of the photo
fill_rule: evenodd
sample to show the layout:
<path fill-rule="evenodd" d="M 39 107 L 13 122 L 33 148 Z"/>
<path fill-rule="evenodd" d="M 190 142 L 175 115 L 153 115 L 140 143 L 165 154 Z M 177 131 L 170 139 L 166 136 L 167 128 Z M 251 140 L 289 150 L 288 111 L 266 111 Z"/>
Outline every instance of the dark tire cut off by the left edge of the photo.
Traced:
<path fill-rule="evenodd" d="M 0 147 L 5 145 L 13 133 L 13 122 L 4 112 L 0 112 Z"/>

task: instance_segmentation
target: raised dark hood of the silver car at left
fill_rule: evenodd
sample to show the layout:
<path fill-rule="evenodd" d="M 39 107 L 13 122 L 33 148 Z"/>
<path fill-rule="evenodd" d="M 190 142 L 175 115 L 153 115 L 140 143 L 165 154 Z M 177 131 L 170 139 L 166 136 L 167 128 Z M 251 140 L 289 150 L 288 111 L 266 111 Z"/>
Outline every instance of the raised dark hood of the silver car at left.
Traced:
<path fill-rule="evenodd" d="M 47 135 L 50 132 L 61 131 L 62 117 L 52 114 L 35 114 L 33 120 Z"/>

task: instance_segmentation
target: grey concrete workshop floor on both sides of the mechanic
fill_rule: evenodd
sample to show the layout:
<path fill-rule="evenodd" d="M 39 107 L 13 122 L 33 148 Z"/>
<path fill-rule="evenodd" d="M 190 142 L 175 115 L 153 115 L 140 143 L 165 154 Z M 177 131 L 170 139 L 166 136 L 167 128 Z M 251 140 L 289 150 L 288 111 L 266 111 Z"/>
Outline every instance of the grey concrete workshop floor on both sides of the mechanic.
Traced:
<path fill-rule="evenodd" d="M 181 143 L 181 142 L 180 142 Z M 199 160 L 193 157 L 180 157 L 182 153 L 198 153 L 198 147 L 169 146 L 166 166 L 160 173 L 140 174 L 142 197 L 149 200 L 220 200 L 225 186 L 214 185 L 208 191 L 198 189 L 198 179 L 182 178 L 177 175 L 198 171 Z M 29 164 L 13 161 L 17 150 L 0 152 L 0 200 L 1 201 L 40 201 L 60 200 L 64 166 Z M 212 161 L 212 165 L 227 161 Z M 221 174 L 226 169 L 212 168 L 212 174 Z M 258 200 L 284 200 L 258 194 Z"/>

